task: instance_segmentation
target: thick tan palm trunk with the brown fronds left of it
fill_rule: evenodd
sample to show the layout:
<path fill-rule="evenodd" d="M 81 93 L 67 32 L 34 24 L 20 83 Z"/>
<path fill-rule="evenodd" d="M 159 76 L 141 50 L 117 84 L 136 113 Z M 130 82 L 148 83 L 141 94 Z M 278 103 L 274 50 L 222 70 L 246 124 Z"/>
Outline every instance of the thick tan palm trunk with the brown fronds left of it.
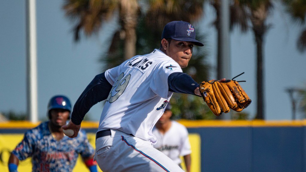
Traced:
<path fill-rule="evenodd" d="M 86 36 L 98 33 L 105 21 L 119 13 L 121 25 L 120 39 L 124 40 L 124 58 L 129 59 L 136 54 L 136 25 L 139 14 L 137 0 L 65 0 L 63 9 L 66 16 L 76 21 L 74 40 L 80 39 L 80 31 Z"/>

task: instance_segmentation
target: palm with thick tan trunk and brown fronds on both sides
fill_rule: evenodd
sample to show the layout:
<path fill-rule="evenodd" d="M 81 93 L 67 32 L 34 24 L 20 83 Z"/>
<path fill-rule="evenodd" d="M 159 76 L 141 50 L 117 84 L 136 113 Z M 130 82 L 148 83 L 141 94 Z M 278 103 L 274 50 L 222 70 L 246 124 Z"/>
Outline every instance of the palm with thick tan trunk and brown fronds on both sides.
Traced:
<path fill-rule="evenodd" d="M 150 0 L 145 6 L 149 7 L 145 15 L 151 32 L 161 32 L 163 26 L 174 19 L 196 21 L 203 14 L 203 0 Z M 137 0 L 65 0 L 63 9 L 66 16 L 76 21 L 75 41 L 80 39 L 81 30 L 86 36 L 98 33 L 104 21 L 118 12 L 121 30 L 117 35 L 124 40 L 124 57 L 129 59 L 136 54 L 136 26 L 140 13 Z"/>

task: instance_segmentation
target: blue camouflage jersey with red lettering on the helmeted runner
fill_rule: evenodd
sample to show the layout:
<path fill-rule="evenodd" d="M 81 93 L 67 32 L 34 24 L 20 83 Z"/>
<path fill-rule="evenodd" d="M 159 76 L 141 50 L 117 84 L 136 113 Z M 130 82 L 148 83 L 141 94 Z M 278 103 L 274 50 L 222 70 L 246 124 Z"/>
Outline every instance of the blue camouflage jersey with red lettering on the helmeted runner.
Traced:
<path fill-rule="evenodd" d="M 72 171 L 79 154 L 84 158 L 94 155 L 85 131 L 80 130 L 73 139 L 64 136 L 56 140 L 50 133 L 48 123 L 43 122 L 28 130 L 12 152 L 19 160 L 32 157 L 33 172 Z"/>

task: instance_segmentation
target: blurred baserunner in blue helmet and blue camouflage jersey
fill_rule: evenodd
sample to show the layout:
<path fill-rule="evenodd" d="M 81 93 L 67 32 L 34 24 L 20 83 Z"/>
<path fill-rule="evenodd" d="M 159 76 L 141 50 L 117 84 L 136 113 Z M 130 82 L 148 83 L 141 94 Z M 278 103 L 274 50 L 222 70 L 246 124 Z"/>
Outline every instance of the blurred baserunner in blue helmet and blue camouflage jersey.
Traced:
<path fill-rule="evenodd" d="M 43 122 L 24 134 L 23 140 L 9 157 L 9 171 L 17 172 L 19 160 L 32 157 L 32 171 L 72 171 L 78 154 L 91 172 L 97 172 L 93 161 L 94 149 L 87 140 L 86 133 L 71 139 L 64 135 L 62 126 L 70 118 L 71 103 L 63 95 L 50 99 L 47 115 L 50 121 Z"/>

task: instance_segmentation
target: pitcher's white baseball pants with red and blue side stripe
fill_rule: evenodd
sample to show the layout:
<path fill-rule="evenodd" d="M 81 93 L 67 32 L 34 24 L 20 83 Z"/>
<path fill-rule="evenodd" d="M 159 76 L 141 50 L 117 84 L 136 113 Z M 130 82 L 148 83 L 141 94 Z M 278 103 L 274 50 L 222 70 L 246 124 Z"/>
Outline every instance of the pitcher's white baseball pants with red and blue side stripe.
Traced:
<path fill-rule="evenodd" d="M 95 159 L 103 172 L 184 172 L 148 141 L 112 130 L 96 140 Z"/>

